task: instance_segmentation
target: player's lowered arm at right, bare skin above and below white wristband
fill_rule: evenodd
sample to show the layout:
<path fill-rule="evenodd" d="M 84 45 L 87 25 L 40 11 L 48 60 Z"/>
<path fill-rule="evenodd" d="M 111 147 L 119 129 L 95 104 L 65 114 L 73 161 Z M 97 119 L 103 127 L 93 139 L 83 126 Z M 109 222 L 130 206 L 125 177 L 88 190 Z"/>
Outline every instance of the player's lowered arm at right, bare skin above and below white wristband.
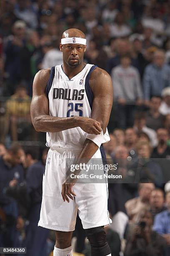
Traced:
<path fill-rule="evenodd" d="M 113 99 L 113 87 L 110 75 L 103 69 L 96 68 L 90 76 L 90 87 L 93 92 L 92 118 L 100 122 L 102 131 L 105 133 L 110 118 Z M 93 141 L 86 139 L 82 151 L 77 158 L 76 164 L 87 164 L 97 149 L 98 146 Z M 76 174 L 79 172 L 80 171 L 77 170 Z M 72 196 L 76 196 L 72 187 L 72 179 L 68 177 L 62 184 L 61 194 L 64 201 L 66 200 L 69 202 L 68 197 L 73 200 Z"/>

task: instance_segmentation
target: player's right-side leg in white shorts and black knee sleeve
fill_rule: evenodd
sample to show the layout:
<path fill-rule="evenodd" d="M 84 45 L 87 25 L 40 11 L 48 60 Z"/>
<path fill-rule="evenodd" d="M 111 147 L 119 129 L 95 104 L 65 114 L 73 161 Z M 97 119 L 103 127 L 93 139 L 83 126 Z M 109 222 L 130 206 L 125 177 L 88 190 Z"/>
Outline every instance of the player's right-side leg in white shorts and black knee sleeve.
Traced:
<path fill-rule="evenodd" d="M 101 157 L 101 151 L 102 148 L 95 153 L 93 159 L 91 159 L 88 164 L 102 165 L 102 159 L 104 160 L 105 157 L 104 154 L 103 157 Z M 94 170 L 92 169 L 91 172 L 94 172 Z M 104 171 L 97 169 L 97 174 L 103 175 Z M 92 256 L 111 255 L 104 230 L 104 226 L 110 225 L 111 223 L 107 210 L 107 180 L 99 181 L 92 179 L 90 181 L 92 183 L 75 184 L 75 203 L 78 207 L 82 226 L 86 231 L 87 238 L 91 245 Z"/>

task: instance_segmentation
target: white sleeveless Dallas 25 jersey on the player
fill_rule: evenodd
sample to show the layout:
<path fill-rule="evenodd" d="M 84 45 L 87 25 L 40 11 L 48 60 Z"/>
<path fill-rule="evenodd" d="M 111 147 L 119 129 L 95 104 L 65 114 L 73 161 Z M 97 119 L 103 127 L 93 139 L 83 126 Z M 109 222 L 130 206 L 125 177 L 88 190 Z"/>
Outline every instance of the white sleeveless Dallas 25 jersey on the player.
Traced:
<path fill-rule="evenodd" d="M 84 116 L 91 118 L 93 94 L 89 77 L 96 66 L 86 64 L 80 73 L 69 79 L 62 65 L 51 68 L 46 93 L 49 98 L 49 115 L 60 118 Z M 80 127 L 56 133 L 47 133 L 46 146 L 80 149 L 86 134 Z"/>

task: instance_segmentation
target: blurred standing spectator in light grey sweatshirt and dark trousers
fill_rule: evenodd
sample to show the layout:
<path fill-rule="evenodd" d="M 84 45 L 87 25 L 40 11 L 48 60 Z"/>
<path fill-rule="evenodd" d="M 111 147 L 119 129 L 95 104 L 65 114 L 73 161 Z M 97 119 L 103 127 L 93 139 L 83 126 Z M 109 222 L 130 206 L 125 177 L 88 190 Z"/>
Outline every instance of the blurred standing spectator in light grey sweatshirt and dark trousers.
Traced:
<path fill-rule="evenodd" d="M 130 63 L 129 56 L 122 56 L 120 66 L 112 70 L 116 115 L 120 117 L 117 126 L 122 129 L 133 125 L 135 105 L 140 105 L 143 98 L 139 72 Z"/>

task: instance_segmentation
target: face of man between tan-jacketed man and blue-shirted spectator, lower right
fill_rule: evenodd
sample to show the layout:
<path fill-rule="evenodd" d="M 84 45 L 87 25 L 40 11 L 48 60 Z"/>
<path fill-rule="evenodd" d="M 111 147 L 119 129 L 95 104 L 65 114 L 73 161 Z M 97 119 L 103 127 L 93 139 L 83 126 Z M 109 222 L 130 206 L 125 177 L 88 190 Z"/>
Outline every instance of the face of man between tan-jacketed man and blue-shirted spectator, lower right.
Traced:
<path fill-rule="evenodd" d="M 163 212 L 166 209 L 163 190 L 155 188 L 150 195 L 150 210 L 153 218 L 155 218 L 156 214 Z"/>

